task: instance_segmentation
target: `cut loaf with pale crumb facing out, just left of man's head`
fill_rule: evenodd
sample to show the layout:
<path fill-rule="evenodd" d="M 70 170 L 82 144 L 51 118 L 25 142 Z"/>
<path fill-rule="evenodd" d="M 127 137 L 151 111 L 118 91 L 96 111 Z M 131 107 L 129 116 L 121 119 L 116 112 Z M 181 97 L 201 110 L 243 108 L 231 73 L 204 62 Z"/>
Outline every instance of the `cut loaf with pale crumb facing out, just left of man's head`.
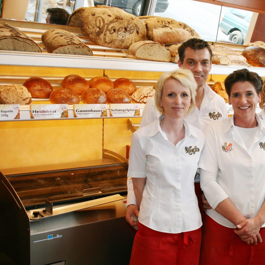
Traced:
<path fill-rule="evenodd" d="M 129 47 L 129 53 L 138 59 L 170 62 L 170 50 L 164 44 L 154 41 L 138 41 Z"/>

